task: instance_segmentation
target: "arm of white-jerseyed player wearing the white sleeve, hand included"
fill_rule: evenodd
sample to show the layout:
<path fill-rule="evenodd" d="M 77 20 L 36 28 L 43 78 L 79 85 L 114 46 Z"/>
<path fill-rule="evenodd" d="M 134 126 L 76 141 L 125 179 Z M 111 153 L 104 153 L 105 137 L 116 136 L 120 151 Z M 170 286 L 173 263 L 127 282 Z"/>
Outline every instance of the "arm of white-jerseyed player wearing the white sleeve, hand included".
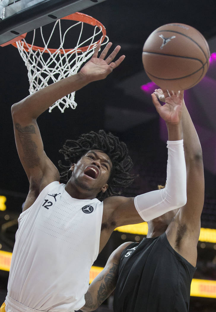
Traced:
<path fill-rule="evenodd" d="M 173 94 L 166 90 L 164 92 L 166 94 L 165 105 L 161 105 L 155 95 L 152 95 L 152 100 L 159 115 L 166 121 L 168 129 L 166 187 L 138 195 L 135 198 L 106 199 L 104 204 L 110 204 L 111 209 L 116 207 L 113 212 L 116 226 L 138 223 L 143 220 L 149 221 L 181 207 L 186 202 L 186 168 L 180 124 L 183 92 Z"/>

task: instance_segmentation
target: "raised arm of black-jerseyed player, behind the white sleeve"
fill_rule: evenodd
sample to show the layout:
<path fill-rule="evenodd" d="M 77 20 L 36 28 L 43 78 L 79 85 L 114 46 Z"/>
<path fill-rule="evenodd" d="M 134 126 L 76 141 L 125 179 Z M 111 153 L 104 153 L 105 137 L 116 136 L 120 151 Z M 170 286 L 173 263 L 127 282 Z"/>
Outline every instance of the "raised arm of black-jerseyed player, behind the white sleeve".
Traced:
<path fill-rule="evenodd" d="M 159 89 L 156 93 L 160 96 L 163 92 Z M 187 170 L 187 202 L 167 228 L 167 238 L 173 248 L 195 266 L 204 204 L 204 169 L 199 137 L 185 103 L 182 110 L 182 135 Z"/>

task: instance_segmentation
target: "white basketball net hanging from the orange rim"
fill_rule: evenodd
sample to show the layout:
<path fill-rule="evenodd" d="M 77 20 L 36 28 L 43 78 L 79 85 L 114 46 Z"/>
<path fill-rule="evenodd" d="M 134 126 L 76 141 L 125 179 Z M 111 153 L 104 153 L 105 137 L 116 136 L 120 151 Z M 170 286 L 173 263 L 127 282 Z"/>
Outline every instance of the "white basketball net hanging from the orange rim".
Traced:
<path fill-rule="evenodd" d="M 65 41 L 65 35 L 72 27 L 78 24 L 82 24 L 82 25 L 81 25 L 81 32 L 79 34 L 77 44 L 75 48 L 71 49 L 69 52 L 66 53 L 63 47 L 64 41 Z M 32 46 L 34 45 L 34 40 L 35 40 L 35 30 L 34 30 L 34 35 L 33 35 L 33 41 L 31 44 L 28 44 L 25 41 L 25 39 L 22 39 L 21 41 L 16 42 L 19 53 L 28 69 L 30 94 L 32 94 L 33 92 L 37 90 L 44 88 L 47 85 L 50 85 L 53 82 L 59 81 L 62 78 L 76 74 L 80 66 L 93 55 L 94 49 L 96 47 L 96 42 L 99 39 L 100 39 L 100 42 L 102 40 L 102 37 L 101 37 L 102 30 L 101 30 L 101 27 L 95 26 L 93 36 L 85 41 L 80 42 L 82 31 L 83 31 L 83 24 L 84 22 L 76 22 L 74 25 L 70 26 L 62 35 L 61 20 L 57 20 L 55 22 L 55 25 L 53 27 L 53 30 L 47 42 L 45 42 L 45 39 L 42 33 L 42 27 L 41 27 L 41 37 L 44 43 L 44 50 L 42 52 L 40 50 L 37 50 L 37 51 L 32 50 Z M 55 53 L 52 54 L 48 50 L 48 44 L 53 35 L 55 27 L 57 25 L 59 25 L 59 32 L 60 32 L 60 47 L 57 49 Z M 102 45 L 106 44 L 108 40 L 109 39 L 106 36 L 104 40 L 105 42 L 103 41 Z M 28 47 L 28 51 L 25 51 L 23 48 L 24 42 L 26 43 Z M 94 44 L 94 46 L 92 48 L 88 47 L 87 51 L 84 51 L 84 52 L 80 51 L 79 48 L 86 45 L 86 43 L 87 45 L 89 45 L 89 47 L 92 44 Z M 60 51 L 59 51 L 60 49 L 64 51 L 64 54 L 60 54 Z M 45 53 L 45 51 L 48 51 L 48 53 Z M 70 93 L 67 96 L 64 96 L 62 99 L 58 100 L 52 106 L 50 106 L 49 112 L 51 112 L 51 110 L 56 106 L 58 106 L 58 108 L 60 109 L 62 113 L 64 112 L 65 108 L 66 107 L 68 108 L 69 106 L 72 109 L 75 109 L 77 106 L 77 103 L 74 101 L 74 96 L 75 96 L 75 91 Z"/>

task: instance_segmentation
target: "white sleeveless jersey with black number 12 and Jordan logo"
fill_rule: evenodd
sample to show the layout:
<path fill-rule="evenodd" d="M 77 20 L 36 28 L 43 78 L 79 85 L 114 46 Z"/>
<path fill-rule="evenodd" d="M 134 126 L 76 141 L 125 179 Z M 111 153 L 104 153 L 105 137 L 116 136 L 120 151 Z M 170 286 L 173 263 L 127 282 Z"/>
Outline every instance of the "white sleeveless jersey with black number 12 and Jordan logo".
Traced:
<path fill-rule="evenodd" d="M 103 202 L 46 186 L 18 222 L 8 295 L 31 309 L 69 312 L 85 303 L 98 256 Z"/>

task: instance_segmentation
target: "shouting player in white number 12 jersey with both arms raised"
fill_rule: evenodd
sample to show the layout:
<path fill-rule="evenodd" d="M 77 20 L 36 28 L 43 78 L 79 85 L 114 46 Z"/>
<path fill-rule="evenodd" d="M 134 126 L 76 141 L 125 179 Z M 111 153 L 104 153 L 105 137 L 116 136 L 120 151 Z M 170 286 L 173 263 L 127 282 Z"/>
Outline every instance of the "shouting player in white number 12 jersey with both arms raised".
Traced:
<path fill-rule="evenodd" d="M 8 294 L 2 306 L 6 312 L 79 310 L 85 303 L 90 267 L 113 230 L 151 220 L 186 202 L 182 92 L 170 95 L 172 101 L 167 99 L 163 106 L 155 105 L 168 129 L 166 188 L 135 198 L 113 196 L 117 195 L 115 187 L 132 182 L 132 162 L 126 145 L 104 131 L 66 142 L 61 152 L 69 165 L 61 167 L 68 181 L 59 184 L 59 171 L 44 152 L 36 119 L 56 100 L 106 78 L 124 59 L 121 56 L 113 62 L 120 46 L 106 57 L 111 45 L 99 57 L 98 45 L 78 74 L 12 106 L 17 151 L 30 188 L 19 217 Z"/>

